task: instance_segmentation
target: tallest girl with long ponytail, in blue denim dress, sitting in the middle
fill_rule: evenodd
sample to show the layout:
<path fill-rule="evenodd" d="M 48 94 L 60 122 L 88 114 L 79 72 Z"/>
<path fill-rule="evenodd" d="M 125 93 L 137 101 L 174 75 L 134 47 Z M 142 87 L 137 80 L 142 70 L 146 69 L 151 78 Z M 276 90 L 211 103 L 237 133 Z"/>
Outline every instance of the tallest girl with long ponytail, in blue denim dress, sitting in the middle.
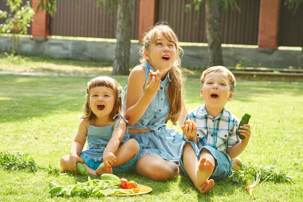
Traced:
<path fill-rule="evenodd" d="M 183 125 L 186 115 L 182 54 L 172 28 L 157 24 L 145 34 L 140 50 L 142 64 L 132 69 L 126 82 L 123 110 L 127 131 L 130 138 L 143 144 L 135 172 L 151 179 L 168 180 L 179 174 L 176 163 L 182 136 L 165 124 L 170 120 Z"/>

